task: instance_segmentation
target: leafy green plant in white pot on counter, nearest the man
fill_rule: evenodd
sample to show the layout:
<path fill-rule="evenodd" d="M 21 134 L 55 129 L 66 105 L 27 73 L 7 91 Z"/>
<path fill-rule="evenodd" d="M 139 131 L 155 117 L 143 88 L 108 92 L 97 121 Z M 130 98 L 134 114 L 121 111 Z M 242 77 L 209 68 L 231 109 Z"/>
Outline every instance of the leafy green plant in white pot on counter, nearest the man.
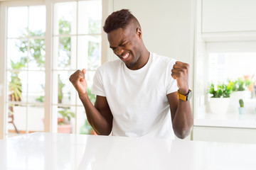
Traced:
<path fill-rule="evenodd" d="M 227 113 L 230 100 L 230 84 L 210 84 L 208 94 L 210 94 L 210 111 L 212 113 Z"/>

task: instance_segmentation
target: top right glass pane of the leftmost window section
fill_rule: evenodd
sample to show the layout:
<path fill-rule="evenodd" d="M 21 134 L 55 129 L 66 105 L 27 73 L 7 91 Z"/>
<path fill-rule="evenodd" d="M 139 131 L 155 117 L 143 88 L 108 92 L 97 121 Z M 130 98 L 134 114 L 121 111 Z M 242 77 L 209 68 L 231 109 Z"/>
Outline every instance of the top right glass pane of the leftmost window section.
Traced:
<path fill-rule="evenodd" d="M 29 26 L 31 36 L 44 36 L 46 33 L 46 6 L 29 6 Z"/>

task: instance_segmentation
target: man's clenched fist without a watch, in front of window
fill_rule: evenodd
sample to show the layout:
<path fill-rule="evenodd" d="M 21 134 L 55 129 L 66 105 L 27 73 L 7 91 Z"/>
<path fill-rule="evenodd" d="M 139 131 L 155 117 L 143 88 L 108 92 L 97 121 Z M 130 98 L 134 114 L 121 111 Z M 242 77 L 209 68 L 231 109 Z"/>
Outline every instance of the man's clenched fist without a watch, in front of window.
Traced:
<path fill-rule="evenodd" d="M 87 82 L 85 80 L 86 69 L 82 69 L 82 72 L 78 69 L 74 74 L 70 76 L 70 82 L 73 84 L 79 95 L 87 93 Z"/>

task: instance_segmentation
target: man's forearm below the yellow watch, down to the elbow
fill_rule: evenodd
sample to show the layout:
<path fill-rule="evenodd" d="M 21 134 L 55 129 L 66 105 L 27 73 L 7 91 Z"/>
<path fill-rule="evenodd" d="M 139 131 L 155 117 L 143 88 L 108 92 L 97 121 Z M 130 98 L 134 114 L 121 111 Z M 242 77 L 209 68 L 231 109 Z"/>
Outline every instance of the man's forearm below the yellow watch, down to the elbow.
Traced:
<path fill-rule="evenodd" d="M 177 137 L 183 139 L 189 135 L 193 125 L 193 115 L 189 101 L 178 99 L 178 107 L 173 120 L 173 128 Z"/>

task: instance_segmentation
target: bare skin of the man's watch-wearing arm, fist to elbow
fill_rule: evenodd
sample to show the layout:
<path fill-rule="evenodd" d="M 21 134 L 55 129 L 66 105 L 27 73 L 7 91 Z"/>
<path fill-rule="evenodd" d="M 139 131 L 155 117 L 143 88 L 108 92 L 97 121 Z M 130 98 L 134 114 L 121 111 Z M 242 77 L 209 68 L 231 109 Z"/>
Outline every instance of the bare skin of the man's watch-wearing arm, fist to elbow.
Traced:
<path fill-rule="evenodd" d="M 176 79 L 177 86 L 181 94 L 188 93 L 188 69 L 189 65 L 183 62 L 176 62 L 171 70 L 171 76 Z M 193 125 L 193 115 L 189 101 L 182 101 L 177 98 L 177 92 L 167 95 L 171 120 L 174 133 L 178 138 L 184 139 L 190 133 Z"/>

